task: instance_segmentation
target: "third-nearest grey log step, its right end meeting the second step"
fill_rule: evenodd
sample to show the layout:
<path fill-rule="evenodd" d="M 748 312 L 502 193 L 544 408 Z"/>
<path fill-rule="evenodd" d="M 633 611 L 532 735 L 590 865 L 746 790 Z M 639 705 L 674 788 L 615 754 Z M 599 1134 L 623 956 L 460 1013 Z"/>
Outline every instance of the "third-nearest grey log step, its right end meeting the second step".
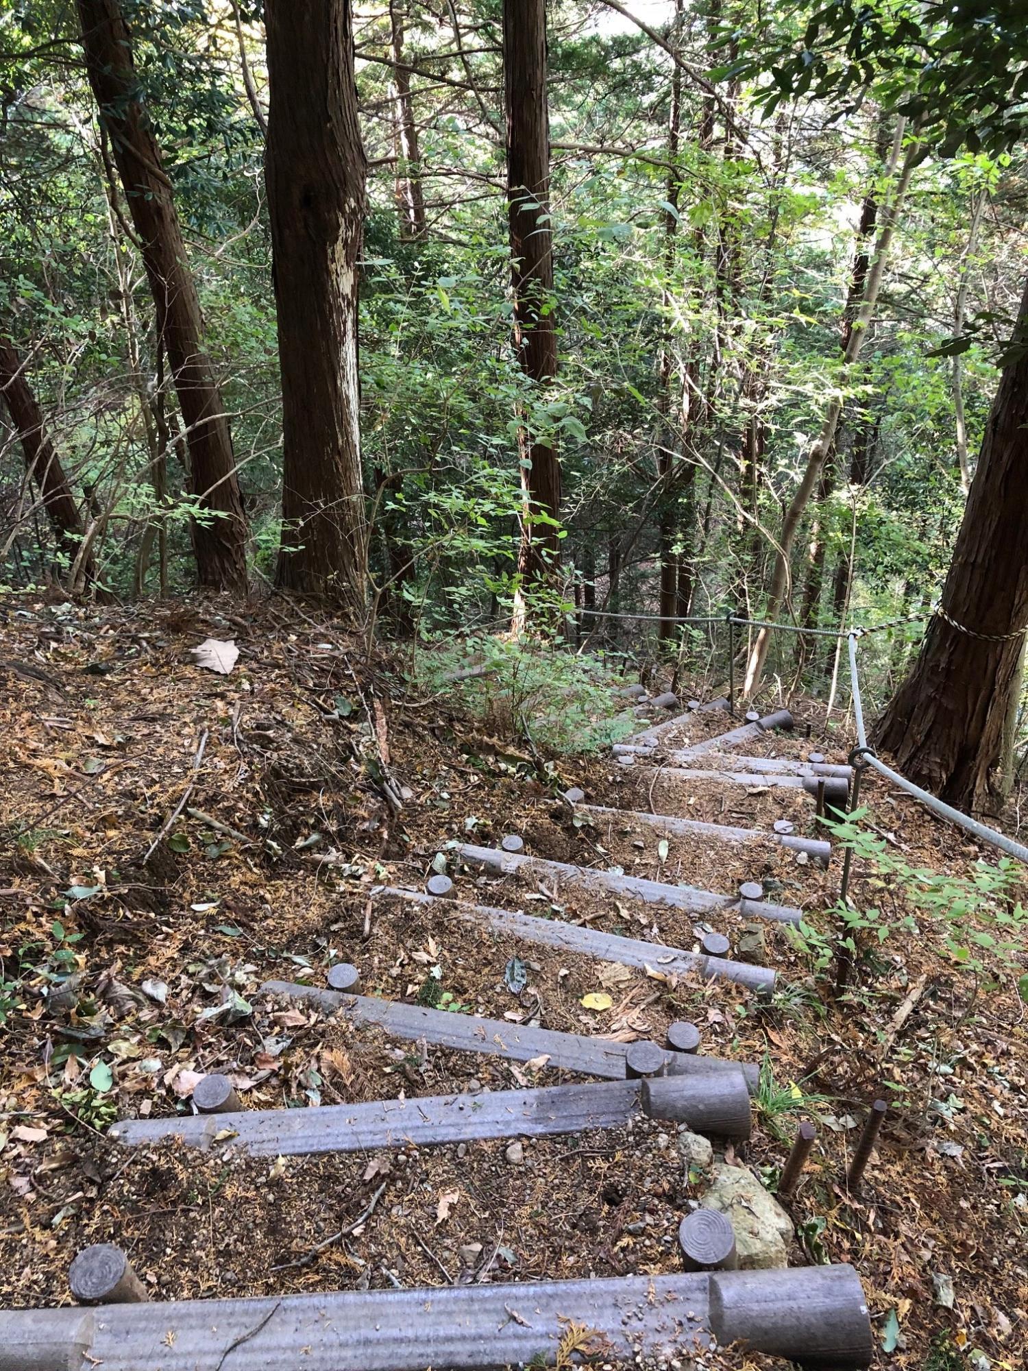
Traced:
<path fill-rule="evenodd" d="M 584 1034 L 561 1032 L 556 1028 L 529 1028 L 502 1019 L 477 1019 L 473 1015 L 454 1015 L 445 1009 L 426 1009 L 396 999 L 376 999 L 371 995 L 344 995 L 318 986 L 300 986 L 289 980 L 266 980 L 263 995 L 288 995 L 315 1005 L 322 1013 L 341 1012 L 352 1023 L 377 1024 L 396 1038 L 417 1042 L 424 1038 L 437 1047 L 455 1052 L 477 1052 L 507 1061 L 533 1061 L 547 1057 L 547 1067 L 574 1071 L 581 1076 L 603 1080 L 625 1080 L 625 1054 L 631 1043 L 613 1038 L 591 1038 Z M 759 1071 L 750 1063 L 725 1061 L 721 1057 L 702 1057 L 685 1052 L 668 1052 L 666 1071 L 673 1076 L 703 1076 L 710 1071 L 742 1071 L 750 1094 L 757 1090 Z"/>

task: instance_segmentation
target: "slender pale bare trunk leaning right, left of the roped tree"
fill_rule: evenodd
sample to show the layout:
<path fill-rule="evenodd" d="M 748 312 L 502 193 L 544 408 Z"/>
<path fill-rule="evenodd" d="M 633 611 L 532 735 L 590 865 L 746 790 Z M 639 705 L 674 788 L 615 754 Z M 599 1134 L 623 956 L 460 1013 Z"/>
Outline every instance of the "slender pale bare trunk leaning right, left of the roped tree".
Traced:
<path fill-rule="evenodd" d="M 892 152 L 890 155 L 890 165 L 887 169 L 888 178 L 896 177 L 899 170 L 902 145 L 903 145 L 903 129 L 905 121 L 899 119 L 896 125 L 896 134 L 892 143 Z M 810 448 L 810 455 L 807 457 L 807 465 L 800 477 L 796 489 L 792 494 L 792 499 L 785 509 L 785 514 L 781 521 L 781 533 L 779 536 L 779 551 L 774 557 L 774 572 L 772 574 L 772 584 L 768 594 L 768 603 L 765 606 L 763 617 L 768 620 L 774 620 L 781 610 L 783 602 L 788 594 L 790 577 L 791 577 L 791 557 L 792 546 L 796 540 L 796 532 L 799 529 L 800 520 L 810 503 L 810 496 L 817 489 L 817 484 L 821 478 L 821 468 L 828 458 L 828 454 L 835 441 L 835 430 L 839 425 L 839 418 L 843 411 L 843 393 L 844 388 L 853 376 L 857 359 L 861 352 L 861 345 L 868 333 L 868 326 L 874 317 L 874 307 L 879 299 L 879 288 L 881 285 L 881 278 L 885 270 L 885 262 L 888 260 L 890 247 L 892 244 L 892 234 L 895 230 L 896 221 L 899 218 L 899 210 L 902 207 L 903 199 L 906 196 L 906 189 L 910 184 L 910 177 L 914 173 L 914 167 L 922 156 L 922 149 L 917 143 L 913 143 L 902 158 L 902 170 L 895 180 L 892 186 L 892 196 L 888 206 L 881 214 L 881 229 L 879 232 L 877 240 L 874 243 L 874 254 L 872 259 L 870 270 L 868 271 L 868 280 L 864 288 L 864 298 L 861 300 L 861 307 L 857 311 L 857 317 L 853 322 L 853 329 L 850 332 L 850 341 L 843 352 L 843 362 L 840 369 L 840 376 L 837 381 L 837 393 L 829 400 L 828 409 L 825 411 L 824 420 L 821 421 L 821 432 L 818 433 L 813 447 Z M 743 684 L 744 694 L 751 695 L 761 683 L 761 676 L 763 673 L 763 664 L 768 657 L 768 646 L 770 642 L 772 629 L 762 628 L 757 632 L 754 639 L 754 646 L 750 651 L 750 658 L 746 666 L 746 680 Z"/>

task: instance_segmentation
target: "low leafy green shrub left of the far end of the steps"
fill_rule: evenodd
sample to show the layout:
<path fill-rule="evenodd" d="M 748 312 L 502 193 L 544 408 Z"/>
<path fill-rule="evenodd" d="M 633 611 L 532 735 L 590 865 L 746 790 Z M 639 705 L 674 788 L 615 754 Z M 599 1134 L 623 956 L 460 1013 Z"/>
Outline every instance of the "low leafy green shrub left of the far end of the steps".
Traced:
<path fill-rule="evenodd" d="M 452 680 L 469 669 L 481 675 Z M 418 651 L 419 690 L 444 695 L 470 718 L 559 755 L 600 751 L 639 725 L 599 654 L 493 635 L 437 639 Z"/>

